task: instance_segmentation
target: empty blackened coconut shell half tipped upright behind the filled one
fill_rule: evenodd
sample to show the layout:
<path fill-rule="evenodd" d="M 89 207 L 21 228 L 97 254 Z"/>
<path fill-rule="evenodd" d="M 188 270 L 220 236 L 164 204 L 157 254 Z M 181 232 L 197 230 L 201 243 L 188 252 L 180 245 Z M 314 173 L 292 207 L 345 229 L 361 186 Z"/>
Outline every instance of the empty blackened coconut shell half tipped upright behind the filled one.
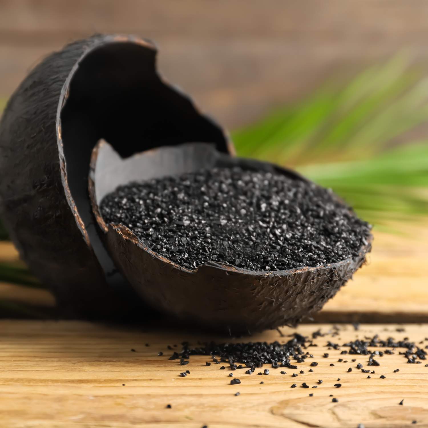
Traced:
<path fill-rule="evenodd" d="M 233 150 L 223 130 L 160 77 L 156 52 L 135 36 L 71 43 L 30 72 L 3 113 L 0 215 L 62 316 L 111 319 L 139 300 L 93 222 L 87 176 L 100 138 L 122 156 L 191 141 Z"/>

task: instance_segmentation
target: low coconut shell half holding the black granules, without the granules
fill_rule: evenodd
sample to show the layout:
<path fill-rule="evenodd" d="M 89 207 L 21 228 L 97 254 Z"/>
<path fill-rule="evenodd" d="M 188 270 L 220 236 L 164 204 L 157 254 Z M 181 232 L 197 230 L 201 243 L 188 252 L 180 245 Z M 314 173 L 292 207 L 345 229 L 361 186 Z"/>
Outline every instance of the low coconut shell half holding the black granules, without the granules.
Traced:
<path fill-rule="evenodd" d="M 233 166 L 307 181 L 291 170 L 232 157 L 206 143 L 162 147 L 122 159 L 101 140 L 92 152 L 89 193 L 104 244 L 143 300 L 181 321 L 234 335 L 297 324 L 321 309 L 363 265 L 372 237 L 357 257 L 325 266 L 256 272 L 206 262 L 189 270 L 150 250 L 126 226 L 106 224 L 98 209 L 107 193 L 131 181 Z"/>

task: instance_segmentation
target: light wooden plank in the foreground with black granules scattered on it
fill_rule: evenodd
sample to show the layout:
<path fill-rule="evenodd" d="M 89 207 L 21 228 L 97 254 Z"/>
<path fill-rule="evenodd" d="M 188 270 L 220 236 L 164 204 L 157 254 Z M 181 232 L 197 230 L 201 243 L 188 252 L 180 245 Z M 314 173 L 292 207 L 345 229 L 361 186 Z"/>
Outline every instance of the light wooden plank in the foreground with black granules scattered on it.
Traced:
<path fill-rule="evenodd" d="M 397 331 L 396 328 L 404 328 Z M 428 325 L 350 325 L 340 330 L 330 325 L 302 325 L 283 329 L 305 336 L 321 328 L 330 332 L 310 347 L 314 359 L 299 365 L 305 373 L 291 377 L 291 369 L 270 369 L 270 375 L 235 371 L 240 385 L 230 385 L 229 369 L 205 366 L 208 357 L 195 356 L 184 370 L 178 360 L 168 360 L 168 345 L 188 340 L 230 341 L 200 333 L 150 329 L 113 328 L 83 322 L 0 322 L 0 419 L 8 428 L 65 427 L 404 427 L 428 426 L 428 367 L 407 364 L 394 350 L 379 357 L 380 367 L 367 366 L 367 356 L 341 355 L 328 349 L 328 340 L 343 344 L 379 334 L 381 339 L 410 340 L 428 344 Z M 333 334 L 332 334 L 333 333 Z M 276 331 L 253 336 L 252 341 L 285 342 Z M 425 340 L 424 340 L 425 339 Z M 241 339 L 245 340 L 245 339 Z M 148 343 L 149 346 L 145 346 Z M 136 352 L 131 352 L 134 348 Z M 179 349 L 179 348 L 177 348 Z M 163 351 L 163 356 L 158 352 Z M 323 358 L 327 352 L 329 356 Z M 348 359 L 339 363 L 338 358 Z M 356 358 L 351 362 L 351 358 Z M 318 362 L 308 372 L 311 361 Z M 330 363 L 334 366 L 331 367 Z M 375 369 L 372 379 L 356 369 Z M 423 362 L 425 363 L 425 362 Z M 226 364 L 227 366 L 227 364 Z M 348 367 L 353 371 L 348 373 Z M 400 369 L 394 373 L 393 370 Z M 380 375 L 385 375 L 381 379 Z M 335 388 L 340 378 L 342 387 Z M 318 379 L 323 383 L 318 384 Z M 264 384 L 260 384 L 263 380 Z M 304 389 L 300 384 L 317 385 Z M 299 387 L 290 388 L 292 383 Z M 125 384 L 124 386 L 122 384 Z M 235 392 L 241 395 L 235 396 Z M 313 397 L 309 397 L 313 393 Z M 330 394 L 338 398 L 333 403 Z M 404 399 L 404 404 L 398 403 Z M 167 409 L 166 405 L 172 408 Z"/>

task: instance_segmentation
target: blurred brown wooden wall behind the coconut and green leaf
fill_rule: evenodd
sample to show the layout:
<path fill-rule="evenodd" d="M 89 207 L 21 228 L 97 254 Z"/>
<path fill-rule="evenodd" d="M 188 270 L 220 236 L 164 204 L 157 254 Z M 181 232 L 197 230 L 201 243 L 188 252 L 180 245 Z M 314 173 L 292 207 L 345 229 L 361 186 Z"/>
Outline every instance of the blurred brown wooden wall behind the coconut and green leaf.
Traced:
<path fill-rule="evenodd" d="M 0 0 L 0 97 L 44 55 L 95 32 L 136 33 L 160 69 L 229 128 L 326 78 L 407 49 L 427 57 L 425 0 Z"/>

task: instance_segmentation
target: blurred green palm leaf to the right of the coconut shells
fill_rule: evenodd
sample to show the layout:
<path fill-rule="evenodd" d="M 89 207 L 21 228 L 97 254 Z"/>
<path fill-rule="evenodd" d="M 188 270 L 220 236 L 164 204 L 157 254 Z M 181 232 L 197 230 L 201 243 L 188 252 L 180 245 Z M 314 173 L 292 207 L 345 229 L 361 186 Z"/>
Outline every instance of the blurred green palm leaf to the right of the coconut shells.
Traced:
<path fill-rule="evenodd" d="M 408 63 L 397 56 L 238 129 L 238 154 L 297 169 L 375 224 L 428 214 L 428 139 L 406 137 L 428 122 L 428 78 Z"/>

